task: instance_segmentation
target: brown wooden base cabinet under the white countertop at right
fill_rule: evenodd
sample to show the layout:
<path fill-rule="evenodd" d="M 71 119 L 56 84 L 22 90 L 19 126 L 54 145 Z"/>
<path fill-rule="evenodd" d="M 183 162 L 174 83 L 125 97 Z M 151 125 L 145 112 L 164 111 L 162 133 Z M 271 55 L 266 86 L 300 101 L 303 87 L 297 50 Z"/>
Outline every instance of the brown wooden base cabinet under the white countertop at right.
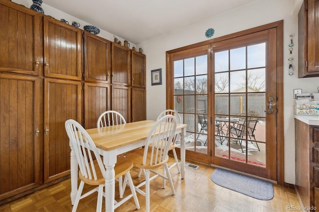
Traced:
<path fill-rule="evenodd" d="M 295 118 L 295 139 L 296 189 L 303 205 L 313 211 L 319 208 L 319 126 Z"/>

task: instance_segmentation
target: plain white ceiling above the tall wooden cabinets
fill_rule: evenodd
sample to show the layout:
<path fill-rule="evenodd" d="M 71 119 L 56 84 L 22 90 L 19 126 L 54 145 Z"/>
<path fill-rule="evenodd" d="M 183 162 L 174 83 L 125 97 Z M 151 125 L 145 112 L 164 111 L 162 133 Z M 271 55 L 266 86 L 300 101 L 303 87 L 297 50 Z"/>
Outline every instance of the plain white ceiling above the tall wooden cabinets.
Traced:
<path fill-rule="evenodd" d="M 43 0 L 139 44 L 256 0 Z"/>

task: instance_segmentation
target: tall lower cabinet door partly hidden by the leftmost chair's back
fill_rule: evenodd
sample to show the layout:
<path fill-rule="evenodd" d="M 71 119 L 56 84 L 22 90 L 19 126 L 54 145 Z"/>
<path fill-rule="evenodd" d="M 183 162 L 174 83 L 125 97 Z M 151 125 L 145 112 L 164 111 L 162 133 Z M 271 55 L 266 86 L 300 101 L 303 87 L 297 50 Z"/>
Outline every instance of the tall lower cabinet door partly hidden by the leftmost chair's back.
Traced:
<path fill-rule="evenodd" d="M 64 122 L 81 123 L 81 82 L 44 79 L 44 181 L 70 173 L 70 145 Z"/>

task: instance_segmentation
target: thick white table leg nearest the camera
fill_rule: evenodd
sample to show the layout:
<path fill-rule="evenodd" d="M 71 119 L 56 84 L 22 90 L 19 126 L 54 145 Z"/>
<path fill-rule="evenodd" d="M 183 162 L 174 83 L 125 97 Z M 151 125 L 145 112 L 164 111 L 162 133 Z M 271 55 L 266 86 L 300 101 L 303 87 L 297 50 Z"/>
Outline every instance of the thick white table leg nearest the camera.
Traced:
<path fill-rule="evenodd" d="M 115 151 L 108 151 L 103 154 L 105 172 L 105 209 L 107 212 L 114 212 L 115 199 L 115 171 L 117 155 Z"/>

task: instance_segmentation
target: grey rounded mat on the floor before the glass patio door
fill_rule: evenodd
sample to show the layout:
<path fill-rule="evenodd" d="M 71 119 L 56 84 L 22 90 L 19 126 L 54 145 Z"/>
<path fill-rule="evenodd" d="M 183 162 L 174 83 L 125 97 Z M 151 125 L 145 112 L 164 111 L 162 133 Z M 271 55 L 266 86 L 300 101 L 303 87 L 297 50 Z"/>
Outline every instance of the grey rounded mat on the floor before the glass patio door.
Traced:
<path fill-rule="evenodd" d="M 258 200 L 271 200 L 274 197 L 273 184 L 257 178 L 216 168 L 210 179 L 219 186 Z"/>

